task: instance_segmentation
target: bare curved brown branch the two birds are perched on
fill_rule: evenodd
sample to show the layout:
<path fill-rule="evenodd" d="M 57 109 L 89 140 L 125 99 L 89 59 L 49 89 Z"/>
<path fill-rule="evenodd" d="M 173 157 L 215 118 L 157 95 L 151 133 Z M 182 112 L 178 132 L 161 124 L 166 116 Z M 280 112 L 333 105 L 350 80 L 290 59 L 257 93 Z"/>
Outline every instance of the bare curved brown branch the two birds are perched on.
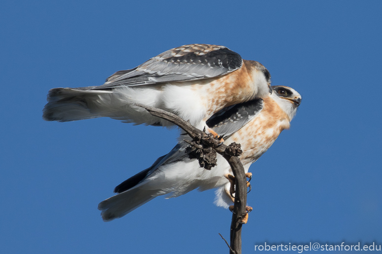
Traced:
<path fill-rule="evenodd" d="M 200 140 L 202 144 L 212 147 L 217 153 L 222 155 L 232 169 L 235 176 L 235 200 L 232 211 L 232 221 L 230 228 L 230 254 L 241 254 L 241 219 L 246 214 L 247 204 L 247 178 L 245 170 L 237 157 L 237 144 L 232 143 L 229 146 L 220 144 L 220 141 L 211 138 L 211 135 L 193 127 L 189 122 L 179 116 L 164 110 L 149 107 L 142 104 L 135 104 L 144 108 L 150 114 L 170 121 L 182 128 L 192 139 Z M 228 148 L 228 149 L 227 149 Z"/>

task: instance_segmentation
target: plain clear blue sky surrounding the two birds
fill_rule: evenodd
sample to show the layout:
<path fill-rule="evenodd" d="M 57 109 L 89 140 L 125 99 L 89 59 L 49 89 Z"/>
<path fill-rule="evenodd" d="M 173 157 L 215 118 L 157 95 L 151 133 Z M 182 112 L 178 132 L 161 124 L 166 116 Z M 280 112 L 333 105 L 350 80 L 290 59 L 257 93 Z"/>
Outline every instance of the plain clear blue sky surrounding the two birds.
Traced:
<path fill-rule="evenodd" d="M 4 253 L 228 253 L 213 191 L 102 222 L 99 201 L 176 143 L 176 130 L 45 122 L 53 87 L 102 85 L 173 47 L 224 45 L 302 104 L 250 171 L 255 243 L 382 244 L 380 1 L 8 1 L 0 7 Z"/>

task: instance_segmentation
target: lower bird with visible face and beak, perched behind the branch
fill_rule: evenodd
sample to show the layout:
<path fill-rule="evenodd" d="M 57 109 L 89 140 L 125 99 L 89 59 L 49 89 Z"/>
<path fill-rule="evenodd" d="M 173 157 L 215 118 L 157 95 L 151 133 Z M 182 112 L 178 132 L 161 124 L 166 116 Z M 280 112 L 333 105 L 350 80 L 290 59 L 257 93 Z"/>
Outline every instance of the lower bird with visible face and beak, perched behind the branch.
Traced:
<path fill-rule="evenodd" d="M 293 88 L 275 85 L 273 93 L 263 98 L 250 100 L 223 108 L 207 121 L 219 135 L 224 135 L 224 144 L 241 144 L 239 156 L 246 175 L 253 164 L 277 139 L 289 129 L 290 121 L 301 104 L 301 95 Z M 175 198 L 194 189 L 216 190 L 215 204 L 228 208 L 233 204 L 230 176 L 231 168 L 221 155 L 211 170 L 200 168 L 198 160 L 185 152 L 188 142 L 180 140 L 166 155 L 154 164 L 128 178 L 114 189 L 117 195 L 98 204 L 105 222 L 125 216 L 144 203 L 158 196 Z"/>

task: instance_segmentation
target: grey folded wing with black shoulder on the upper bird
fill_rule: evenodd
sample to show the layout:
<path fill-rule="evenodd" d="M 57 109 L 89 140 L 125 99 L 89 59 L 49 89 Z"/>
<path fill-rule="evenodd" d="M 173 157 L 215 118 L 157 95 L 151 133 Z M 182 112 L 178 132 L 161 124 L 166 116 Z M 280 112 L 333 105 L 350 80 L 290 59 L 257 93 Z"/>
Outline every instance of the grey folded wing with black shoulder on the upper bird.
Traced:
<path fill-rule="evenodd" d="M 208 79 L 235 71 L 242 65 L 241 56 L 224 46 L 190 44 L 163 52 L 133 69 L 118 71 L 107 78 L 104 85 L 90 89 Z"/>

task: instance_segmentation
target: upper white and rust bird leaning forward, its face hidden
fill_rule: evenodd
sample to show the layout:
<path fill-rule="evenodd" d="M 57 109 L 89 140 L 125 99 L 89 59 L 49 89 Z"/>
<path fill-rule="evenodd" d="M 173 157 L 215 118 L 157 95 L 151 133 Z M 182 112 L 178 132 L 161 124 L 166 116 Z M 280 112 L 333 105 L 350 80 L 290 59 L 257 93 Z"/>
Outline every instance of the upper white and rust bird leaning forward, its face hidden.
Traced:
<path fill-rule="evenodd" d="M 244 60 L 224 46 L 190 44 L 117 71 L 100 86 L 50 89 L 43 119 L 111 117 L 133 124 L 173 126 L 136 106 L 144 104 L 175 113 L 202 130 L 221 109 L 270 92 L 271 75 L 261 63 Z"/>

